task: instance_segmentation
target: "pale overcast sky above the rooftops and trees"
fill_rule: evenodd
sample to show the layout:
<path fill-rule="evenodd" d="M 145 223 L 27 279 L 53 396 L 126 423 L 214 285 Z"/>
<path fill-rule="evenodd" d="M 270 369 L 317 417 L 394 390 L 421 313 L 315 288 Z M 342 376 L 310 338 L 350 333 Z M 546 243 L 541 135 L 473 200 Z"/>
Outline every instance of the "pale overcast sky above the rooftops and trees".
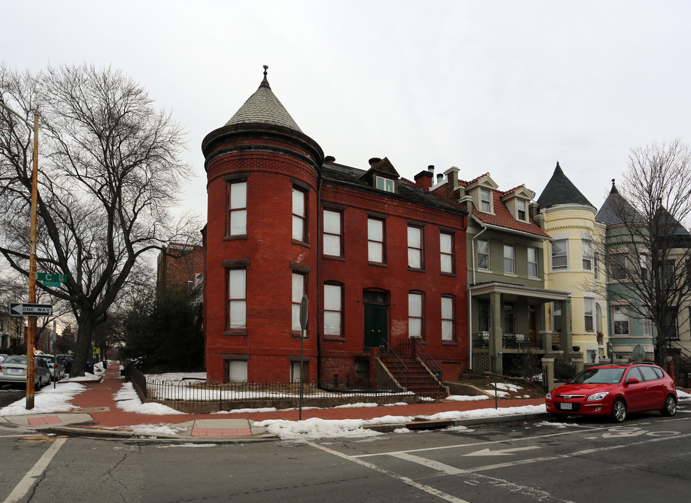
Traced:
<path fill-rule="evenodd" d="M 631 147 L 691 141 L 689 1 L 1 1 L 0 58 L 112 65 L 200 145 L 269 65 L 274 94 L 339 163 L 489 172 L 540 196 L 556 161 L 593 205 Z M 11 24 L 10 24 L 11 22 Z M 536 196 L 536 197 L 537 197 Z"/>

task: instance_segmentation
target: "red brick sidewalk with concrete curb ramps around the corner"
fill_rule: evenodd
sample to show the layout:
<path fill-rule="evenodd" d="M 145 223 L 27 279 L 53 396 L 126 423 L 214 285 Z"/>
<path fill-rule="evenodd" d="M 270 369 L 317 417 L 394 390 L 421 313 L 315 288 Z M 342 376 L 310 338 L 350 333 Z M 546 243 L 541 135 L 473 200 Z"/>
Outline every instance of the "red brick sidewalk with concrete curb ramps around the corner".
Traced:
<path fill-rule="evenodd" d="M 228 442 L 251 439 L 272 439 L 265 428 L 257 428 L 254 423 L 267 419 L 298 421 L 297 409 L 277 410 L 270 412 L 246 411 L 239 413 L 214 414 L 166 414 L 150 415 L 124 411 L 117 407 L 115 395 L 124 384 L 120 377 L 117 362 L 108 365 L 104 372 L 98 374 L 94 381 L 80 381 L 86 386 L 70 401 L 75 409 L 56 414 L 27 414 L 24 416 L 6 416 L 0 423 L 17 425 L 32 430 L 54 430 L 71 434 L 107 435 L 113 437 L 156 437 L 184 440 L 185 442 L 214 441 Z M 498 400 L 498 407 L 524 407 L 544 404 L 544 399 Z M 463 420 L 429 421 L 429 416 L 447 411 L 470 411 L 477 409 L 494 409 L 494 400 L 472 402 L 431 402 L 410 405 L 392 405 L 387 407 L 346 407 L 329 409 L 303 409 L 302 419 L 372 419 L 385 416 L 413 416 L 415 421 L 408 423 L 367 425 L 364 428 L 380 432 L 396 428 L 409 430 L 445 428 L 451 425 L 470 425 L 496 421 L 519 421 L 525 418 L 547 416 L 547 414 L 521 414 L 499 417 L 482 417 Z M 170 435 L 147 433 L 147 425 L 167 425 Z"/>

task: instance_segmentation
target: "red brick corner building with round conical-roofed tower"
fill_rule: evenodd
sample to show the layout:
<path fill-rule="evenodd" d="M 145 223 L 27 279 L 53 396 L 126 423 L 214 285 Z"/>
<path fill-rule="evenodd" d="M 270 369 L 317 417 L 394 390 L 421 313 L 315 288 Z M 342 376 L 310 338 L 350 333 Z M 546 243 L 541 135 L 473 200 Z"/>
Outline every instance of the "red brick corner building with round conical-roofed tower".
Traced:
<path fill-rule="evenodd" d="M 325 157 L 266 71 L 202 152 L 209 379 L 371 382 L 380 347 L 406 351 L 410 339 L 458 379 L 468 367 L 467 215 L 429 194 L 432 170 L 413 183 L 388 159 L 357 169 Z"/>

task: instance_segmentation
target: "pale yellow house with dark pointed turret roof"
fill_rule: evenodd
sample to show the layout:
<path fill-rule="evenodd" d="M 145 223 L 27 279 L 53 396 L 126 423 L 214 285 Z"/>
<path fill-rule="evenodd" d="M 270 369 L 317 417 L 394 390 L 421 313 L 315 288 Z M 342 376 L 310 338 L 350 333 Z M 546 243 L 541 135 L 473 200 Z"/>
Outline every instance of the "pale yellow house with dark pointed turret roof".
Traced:
<path fill-rule="evenodd" d="M 607 298 L 593 285 L 604 282 L 594 252 L 604 240 L 597 210 L 556 168 L 537 198 L 535 221 L 550 239 L 544 242 L 545 287 L 570 291 L 571 302 L 552 302 L 544 312 L 553 344 L 567 360 L 595 365 L 607 358 Z M 570 319 L 570 323 L 567 321 Z"/>

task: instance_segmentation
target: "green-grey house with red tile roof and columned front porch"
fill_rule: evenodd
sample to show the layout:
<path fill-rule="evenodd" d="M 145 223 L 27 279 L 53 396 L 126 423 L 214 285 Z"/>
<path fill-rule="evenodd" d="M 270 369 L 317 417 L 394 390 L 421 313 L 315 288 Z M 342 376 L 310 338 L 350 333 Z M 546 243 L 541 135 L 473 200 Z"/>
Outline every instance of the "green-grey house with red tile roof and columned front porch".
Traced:
<path fill-rule="evenodd" d="M 438 177 L 433 194 L 468 211 L 468 338 L 475 372 L 521 372 L 526 358 L 558 356 L 544 313 L 570 305 L 570 292 L 545 288 L 544 243 L 535 223 L 535 193 L 525 185 L 500 190 L 489 173 L 465 181 L 459 168 Z M 565 308 L 565 326 L 570 309 Z M 533 364 L 537 360 L 533 360 Z"/>

